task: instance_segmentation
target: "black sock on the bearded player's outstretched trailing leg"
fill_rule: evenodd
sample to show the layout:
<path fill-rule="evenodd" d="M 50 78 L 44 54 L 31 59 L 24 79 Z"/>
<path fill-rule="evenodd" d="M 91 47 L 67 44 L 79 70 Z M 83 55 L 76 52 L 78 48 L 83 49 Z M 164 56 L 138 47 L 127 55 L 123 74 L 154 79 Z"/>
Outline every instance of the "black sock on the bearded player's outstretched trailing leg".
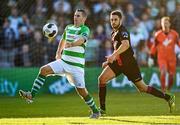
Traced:
<path fill-rule="evenodd" d="M 159 98 L 163 98 L 166 101 L 168 101 L 170 99 L 170 95 L 163 93 L 162 91 L 160 91 L 152 86 L 148 86 L 147 93 L 154 95 L 156 97 L 159 97 Z"/>

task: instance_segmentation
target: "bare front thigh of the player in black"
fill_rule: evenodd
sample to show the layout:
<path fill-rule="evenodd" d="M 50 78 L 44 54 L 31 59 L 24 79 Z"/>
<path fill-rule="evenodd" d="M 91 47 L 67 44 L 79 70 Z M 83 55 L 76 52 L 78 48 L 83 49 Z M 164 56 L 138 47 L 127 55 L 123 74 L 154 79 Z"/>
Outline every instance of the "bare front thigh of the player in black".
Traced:
<path fill-rule="evenodd" d="M 100 83 L 106 83 L 109 80 L 113 79 L 114 77 L 116 77 L 114 71 L 109 66 L 106 66 L 102 71 L 102 73 L 100 74 L 98 80 Z"/>

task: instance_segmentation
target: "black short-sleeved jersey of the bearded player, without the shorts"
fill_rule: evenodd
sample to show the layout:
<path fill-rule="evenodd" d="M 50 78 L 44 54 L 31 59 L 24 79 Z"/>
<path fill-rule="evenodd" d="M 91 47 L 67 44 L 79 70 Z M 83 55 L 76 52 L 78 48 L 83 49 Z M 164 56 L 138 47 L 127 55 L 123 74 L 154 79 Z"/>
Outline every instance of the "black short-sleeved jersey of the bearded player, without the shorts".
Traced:
<path fill-rule="evenodd" d="M 121 25 L 116 32 L 113 31 L 111 33 L 111 36 L 112 36 L 112 43 L 113 43 L 115 50 L 118 49 L 119 46 L 122 44 L 121 43 L 122 40 L 129 41 L 130 47 L 125 52 L 120 54 L 120 58 L 121 58 L 122 62 L 126 61 L 129 57 L 134 55 L 134 52 L 133 52 L 133 49 L 132 49 L 131 43 L 130 43 L 130 34 L 123 25 Z"/>

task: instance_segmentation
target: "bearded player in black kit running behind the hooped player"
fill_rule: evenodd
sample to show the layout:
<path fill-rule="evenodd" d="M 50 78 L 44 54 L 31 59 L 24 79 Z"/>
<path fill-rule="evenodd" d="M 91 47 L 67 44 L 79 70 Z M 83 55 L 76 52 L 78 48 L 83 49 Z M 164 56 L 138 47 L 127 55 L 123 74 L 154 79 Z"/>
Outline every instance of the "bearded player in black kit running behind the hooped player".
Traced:
<path fill-rule="evenodd" d="M 175 108 L 175 96 L 163 93 L 144 83 L 137 61 L 133 56 L 134 52 L 130 43 L 130 34 L 122 25 L 122 12 L 119 10 L 112 11 L 110 14 L 110 22 L 113 29 L 111 36 L 114 52 L 106 57 L 107 60 L 102 64 L 103 71 L 98 78 L 101 114 L 105 114 L 106 110 L 106 83 L 121 73 L 126 75 L 140 92 L 165 99 L 169 104 L 170 112 L 172 112 Z"/>

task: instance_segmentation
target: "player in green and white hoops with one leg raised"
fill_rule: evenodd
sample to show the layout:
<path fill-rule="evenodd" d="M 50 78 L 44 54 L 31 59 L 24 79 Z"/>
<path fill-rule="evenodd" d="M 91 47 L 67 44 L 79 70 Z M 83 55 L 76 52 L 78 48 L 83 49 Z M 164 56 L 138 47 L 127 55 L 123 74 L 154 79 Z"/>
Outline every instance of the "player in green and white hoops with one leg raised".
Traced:
<path fill-rule="evenodd" d="M 40 68 L 37 78 L 34 80 L 31 92 L 19 91 L 28 102 L 33 98 L 44 85 L 46 77 L 52 74 L 65 74 L 70 83 L 74 83 L 77 93 L 84 99 L 91 108 L 90 118 L 99 118 L 99 110 L 85 87 L 84 65 L 85 47 L 90 33 L 89 28 L 84 24 L 87 18 L 85 10 L 77 9 L 74 13 L 74 24 L 67 25 L 62 39 L 56 51 L 56 61 L 50 62 Z"/>

